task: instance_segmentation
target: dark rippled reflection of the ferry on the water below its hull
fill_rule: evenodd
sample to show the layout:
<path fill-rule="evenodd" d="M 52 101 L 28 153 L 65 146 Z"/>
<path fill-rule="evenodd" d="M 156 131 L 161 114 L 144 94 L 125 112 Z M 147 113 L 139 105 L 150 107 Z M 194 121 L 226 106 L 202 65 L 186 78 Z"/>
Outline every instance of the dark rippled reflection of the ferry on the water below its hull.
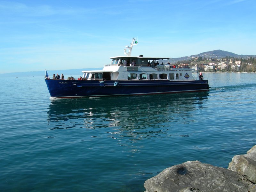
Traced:
<path fill-rule="evenodd" d="M 208 92 L 173 95 L 145 95 L 116 97 L 109 102 L 106 97 L 87 99 L 51 100 L 48 108 L 50 129 L 102 128 L 117 130 L 156 127 L 158 123 L 184 118 L 208 99 Z M 201 106 L 202 107 L 202 106 Z M 154 121 L 153 121 L 154 120 Z"/>

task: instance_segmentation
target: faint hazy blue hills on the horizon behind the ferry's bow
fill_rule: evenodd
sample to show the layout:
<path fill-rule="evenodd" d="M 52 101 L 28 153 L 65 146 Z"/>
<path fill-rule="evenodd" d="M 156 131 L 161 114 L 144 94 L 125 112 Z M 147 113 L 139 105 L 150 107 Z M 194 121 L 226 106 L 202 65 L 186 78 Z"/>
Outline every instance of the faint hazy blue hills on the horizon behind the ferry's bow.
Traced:
<path fill-rule="evenodd" d="M 61 75 L 80 75 L 82 71 L 88 70 L 99 70 L 102 68 L 84 68 L 84 69 L 67 69 L 67 70 L 47 70 L 47 73 L 50 77 L 55 73 Z M 26 77 L 26 76 L 45 76 L 45 71 L 28 71 L 28 72 L 15 72 L 15 73 L 3 73 L 0 74 L 0 77 Z"/>

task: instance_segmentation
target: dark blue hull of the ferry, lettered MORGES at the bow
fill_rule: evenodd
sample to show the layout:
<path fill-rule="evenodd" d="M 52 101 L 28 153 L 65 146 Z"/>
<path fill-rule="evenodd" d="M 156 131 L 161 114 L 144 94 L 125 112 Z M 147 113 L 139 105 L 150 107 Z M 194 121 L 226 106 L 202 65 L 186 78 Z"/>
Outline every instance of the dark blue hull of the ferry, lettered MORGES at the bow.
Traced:
<path fill-rule="evenodd" d="M 176 92 L 209 91 L 207 80 L 173 81 L 169 80 L 55 80 L 45 79 L 51 97 L 72 98 L 110 95 L 161 94 Z"/>

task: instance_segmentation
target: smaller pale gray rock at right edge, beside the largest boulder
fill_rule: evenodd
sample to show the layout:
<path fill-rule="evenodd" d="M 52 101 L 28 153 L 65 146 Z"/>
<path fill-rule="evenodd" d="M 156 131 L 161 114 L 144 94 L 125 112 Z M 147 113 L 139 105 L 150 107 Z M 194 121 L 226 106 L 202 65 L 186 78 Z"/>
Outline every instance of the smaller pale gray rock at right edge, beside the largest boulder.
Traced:
<path fill-rule="evenodd" d="M 228 165 L 228 169 L 243 175 L 249 181 L 256 183 L 256 145 L 245 155 L 236 155 Z"/>

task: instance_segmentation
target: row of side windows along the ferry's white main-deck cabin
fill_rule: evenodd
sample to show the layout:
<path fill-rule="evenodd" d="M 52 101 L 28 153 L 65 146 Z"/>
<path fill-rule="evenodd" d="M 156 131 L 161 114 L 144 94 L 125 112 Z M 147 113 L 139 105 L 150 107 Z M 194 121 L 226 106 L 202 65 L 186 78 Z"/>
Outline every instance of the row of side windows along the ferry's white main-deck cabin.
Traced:
<path fill-rule="evenodd" d="M 180 73 L 181 75 L 181 73 Z M 128 74 L 128 79 L 148 79 L 148 74 L 145 74 L 145 73 L 141 73 L 141 74 L 136 74 L 136 73 L 129 73 Z M 158 76 L 156 73 L 151 73 L 149 74 L 149 79 L 158 79 Z M 159 74 L 159 79 L 168 79 L 167 78 L 167 74 L 166 73 L 162 73 L 162 74 Z M 174 73 L 170 73 L 169 74 L 169 79 L 170 80 L 173 80 L 174 79 Z M 175 79 L 179 79 L 179 73 L 176 73 L 175 74 Z"/>

